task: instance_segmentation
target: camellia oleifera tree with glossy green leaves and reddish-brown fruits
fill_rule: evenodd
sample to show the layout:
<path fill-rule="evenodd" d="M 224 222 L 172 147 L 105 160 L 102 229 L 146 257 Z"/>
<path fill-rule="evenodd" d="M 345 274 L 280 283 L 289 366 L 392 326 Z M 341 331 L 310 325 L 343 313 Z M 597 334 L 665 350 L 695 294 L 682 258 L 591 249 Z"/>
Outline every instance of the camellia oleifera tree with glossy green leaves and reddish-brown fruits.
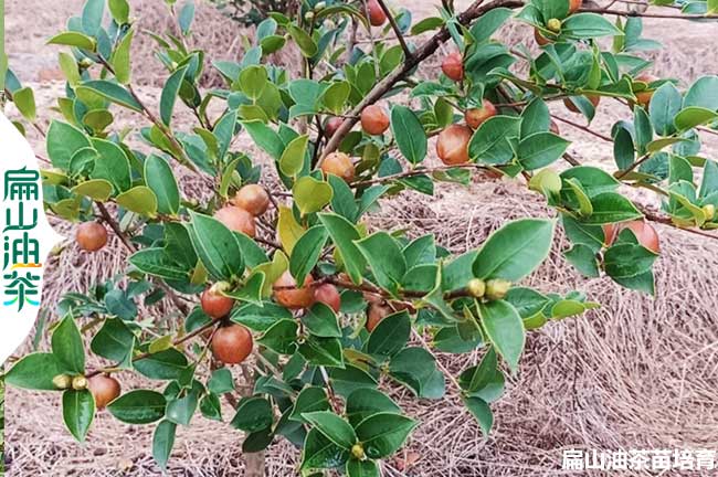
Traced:
<path fill-rule="evenodd" d="M 155 425 L 152 454 L 165 467 L 177 426 L 201 413 L 218 432 L 236 428 L 247 455 L 286 438 L 303 474 L 379 475 L 421 425 L 388 390 L 418 400 L 448 392 L 488 433 L 527 330 L 598 306 L 580 292 L 521 285 L 557 226 L 577 273 L 650 294 L 659 254 L 651 222 L 704 235 L 718 226 L 718 166 L 699 153 L 701 136 L 715 134 L 718 77 L 679 85 L 647 74 L 635 54 L 656 46 L 641 38 L 640 15 L 711 21 L 710 0 L 668 4 L 669 13 L 574 0 L 477 1 L 456 12 L 444 2 L 414 24 L 382 0 L 305 0 L 293 18 L 263 21 L 240 62 L 190 49 L 193 6 L 167 3 L 176 32 L 151 33 L 167 68 L 158 108 L 133 87 L 131 42 L 145 32 L 126 0 L 88 0 L 50 40 L 67 46 L 67 82 L 61 117 L 46 127 L 47 211 L 81 223 L 87 253 L 114 233 L 130 256 L 122 279 L 66 295 L 51 349 L 21 358 L 7 382 L 56 392 L 78 441 L 106 407 Z M 530 24 L 540 49 L 493 39 L 507 22 Z M 419 80 L 418 66 L 445 43 L 442 72 Z M 298 75 L 267 62 L 289 44 L 302 55 Z M 210 67 L 224 88 L 198 87 Z M 13 75 L 8 96 L 45 132 L 32 91 Z M 610 132 L 579 117 L 590 123 L 599 100 L 625 112 Z M 567 152 L 550 102 L 576 114 L 560 121 L 613 144 L 613 171 Z M 191 128 L 172 123 L 180 107 Z M 135 113 L 131 129 L 113 128 L 119 109 Z M 278 180 L 234 146 L 240 134 Z M 426 165 L 433 136 L 441 166 Z M 183 197 L 179 168 L 200 178 L 203 198 Z M 436 182 L 465 184 L 478 171 L 526 184 L 553 216 L 508 222 L 457 255 L 431 234 L 367 225 L 387 197 L 430 197 Z M 642 210 L 622 186 L 655 193 L 658 206 Z M 172 310 L 139 319 L 139 299 Z M 434 356 L 477 348 L 482 358 L 456 375 Z M 127 389 L 129 373 L 157 386 Z M 222 415 L 222 399 L 233 415 Z"/>

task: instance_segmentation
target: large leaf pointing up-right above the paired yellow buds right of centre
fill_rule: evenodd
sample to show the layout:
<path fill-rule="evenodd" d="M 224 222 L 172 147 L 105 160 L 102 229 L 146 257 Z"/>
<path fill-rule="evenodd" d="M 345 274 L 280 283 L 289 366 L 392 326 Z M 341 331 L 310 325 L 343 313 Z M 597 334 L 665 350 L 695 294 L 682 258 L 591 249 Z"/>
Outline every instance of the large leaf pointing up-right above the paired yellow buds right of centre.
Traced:
<path fill-rule="evenodd" d="M 478 252 L 474 275 L 482 279 L 503 278 L 518 282 L 548 256 L 556 222 L 524 219 L 494 232 Z"/>

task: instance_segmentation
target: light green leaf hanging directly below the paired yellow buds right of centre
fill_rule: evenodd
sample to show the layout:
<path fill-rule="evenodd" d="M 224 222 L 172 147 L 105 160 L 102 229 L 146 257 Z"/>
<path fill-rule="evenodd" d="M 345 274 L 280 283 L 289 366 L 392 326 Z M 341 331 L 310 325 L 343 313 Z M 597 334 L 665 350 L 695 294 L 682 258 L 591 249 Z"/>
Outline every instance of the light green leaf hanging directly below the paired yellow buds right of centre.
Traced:
<path fill-rule="evenodd" d="M 521 317 L 516 308 L 504 300 L 479 304 L 478 308 L 488 340 L 506 360 L 509 369 L 516 372 L 526 342 Z"/>

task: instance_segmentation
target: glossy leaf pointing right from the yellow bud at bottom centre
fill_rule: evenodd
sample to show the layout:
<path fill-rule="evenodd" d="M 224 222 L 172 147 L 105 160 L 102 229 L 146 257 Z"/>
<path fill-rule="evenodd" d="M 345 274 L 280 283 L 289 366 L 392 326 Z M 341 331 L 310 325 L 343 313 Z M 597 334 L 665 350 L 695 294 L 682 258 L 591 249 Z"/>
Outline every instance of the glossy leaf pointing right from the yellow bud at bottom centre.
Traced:
<path fill-rule="evenodd" d="M 416 427 L 412 418 L 394 413 L 378 413 L 362 421 L 356 428 L 370 458 L 383 458 L 395 453 Z"/>

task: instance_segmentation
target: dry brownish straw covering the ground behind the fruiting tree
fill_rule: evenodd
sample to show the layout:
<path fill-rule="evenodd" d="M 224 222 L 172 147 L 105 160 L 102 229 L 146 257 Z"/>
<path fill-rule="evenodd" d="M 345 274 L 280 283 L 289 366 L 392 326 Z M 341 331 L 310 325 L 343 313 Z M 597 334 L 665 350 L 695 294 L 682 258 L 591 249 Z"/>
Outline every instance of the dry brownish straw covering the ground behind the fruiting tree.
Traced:
<path fill-rule="evenodd" d="M 33 3 L 41 2 L 9 1 L 8 50 L 12 66 L 13 60 L 24 64 L 22 80 L 36 88 L 39 110 L 46 112 L 62 88 L 60 82 L 53 81 L 54 56 L 47 59 L 36 53 L 31 61 L 23 55 L 42 51 L 36 43 L 59 30 L 62 19 L 54 13 L 39 13 L 38 23 L 25 24 L 23 30 L 18 15 L 29 15 L 18 13 L 19 9 L 21 6 L 31 9 Z M 166 24 L 161 9 L 148 1 L 138 3 L 140 12 L 146 13 L 141 15 L 146 25 Z M 424 17 L 432 12 L 433 2 L 419 3 Z M 78 10 L 78 4 L 76 0 L 62 2 L 57 10 L 67 9 L 72 13 Z M 220 57 L 239 53 L 237 28 L 215 11 L 200 8 L 196 30 L 204 32 L 198 45 L 223 52 Z M 715 54 L 704 56 L 711 38 L 705 25 L 686 32 L 666 28 L 665 23 L 651 23 L 646 30 L 654 33 L 650 38 L 663 40 L 669 47 L 668 53 L 658 54 L 661 66 L 656 73 L 688 81 L 718 71 Z M 525 33 L 511 29 L 506 35 L 520 41 L 526 39 Z M 148 39 L 138 47 L 149 49 L 147 42 Z M 158 64 L 149 53 L 142 57 L 139 64 Z M 157 70 L 136 67 L 136 71 L 145 84 L 141 94 L 151 103 L 159 96 L 155 83 L 160 76 Z M 431 70 L 426 71 L 429 74 Z M 211 84 L 214 80 L 210 76 L 207 81 Z M 604 102 L 595 129 L 608 134 L 611 124 L 625 113 L 622 107 Z M 178 114 L 178 120 L 188 126 L 189 115 Z M 567 116 L 564 112 L 561 114 Z M 119 116 L 126 124 L 133 124 L 134 119 L 129 115 Z M 610 144 L 564 125 L 561 129 L 574 141 L 571 151 L 578 158 L 609 167 Z M 39 152 L 44 149 L 40 138 L 31 136 L 31 140 Z M 245 136 L 233 147 L 268 163 Z M 718 147 L 714 142 L 704 152 L 715 158 Z M 182 184 L 186 193 L 201 194 L 200 186 L 191 178 L 183 178 Z M 477 178 L 468 188 L 442 184 L 432 199 L 404 192 L 384 201 L 381 210 L 372 213 L 370 226 L 404 229 L 412 236 L 434 233 L 437 242 L 452 252 L 463 252 L 479 245 L 509 219 L 548 214 L 541 198 L 526 191 L 520 183 Z M 67 237 L 74 232 L 66 224 L 59 224 L 59 231 Z M 601 308 L 530 333 L 521 370 L 509 379 L 505 396 L 494 406 L 495 430 L 486 439 L 457 402 L 455 390 L 440 401 L 418 402 L 405 390 L 394 389 L 394 396 L 422 425 L 405 451 L 384 466 L 384 474 L 391 477 L 555 476 L 566 475 L 560 466 L 563 451 L 568 448 L 718 448 L 718 242 L 661 225 L 658 232 L 662 257 L 656 266 L 656 298 L 626 292 L 608 279 L 580 278 L 562 258 L 560 251 L 567 243 L 559 236 L 550 258 L 529 278 L 531 285 L 558 293 L 580 289 L 601 303 Z M 125 258 L 116 240 L 94 255 L 80 253 L 68 242 L 49 267 L 43 297 L 46 309 L 52 310 L 63 293 L 86 289 L 122 272 Z M 165 305 L 160 307 L 161 312 L 168 310 Z M 56 317 L 50 314 L 49 319 L 53 318 Z M 46 329 L 41 329 L 36 340 L 40 347 L 46 346 L 45 335 Z M 22 352 L 32 349 L 31 341 L 28 340 Z M 444 367 L 457 373 L 475 363 L 479 356 L 476 351 L 439 358 Z M 158 386 L 157 382 L 129 373 L 123 373 L 122 382 L 125 390 Z M 151 427 L 125 425 L 107 412 L 101 412 L 87 443 L 80 445 L 64 430 L 59 404 L 54 394 L 8 390 L 8 475 L 160 475 L 150 455 Z M 231 416 L 232 410 L 224 407 L 223 414 Z M 228 424 L 198 415 L 191 427 L 178 428 L 168 474 L 240 476 L 244 465 L 241 438 L 241 433 Z M 276 443 L 266 456 L 266 474 L 293 475 L 297 460 L 295 448 L 286 442 Z"/>

